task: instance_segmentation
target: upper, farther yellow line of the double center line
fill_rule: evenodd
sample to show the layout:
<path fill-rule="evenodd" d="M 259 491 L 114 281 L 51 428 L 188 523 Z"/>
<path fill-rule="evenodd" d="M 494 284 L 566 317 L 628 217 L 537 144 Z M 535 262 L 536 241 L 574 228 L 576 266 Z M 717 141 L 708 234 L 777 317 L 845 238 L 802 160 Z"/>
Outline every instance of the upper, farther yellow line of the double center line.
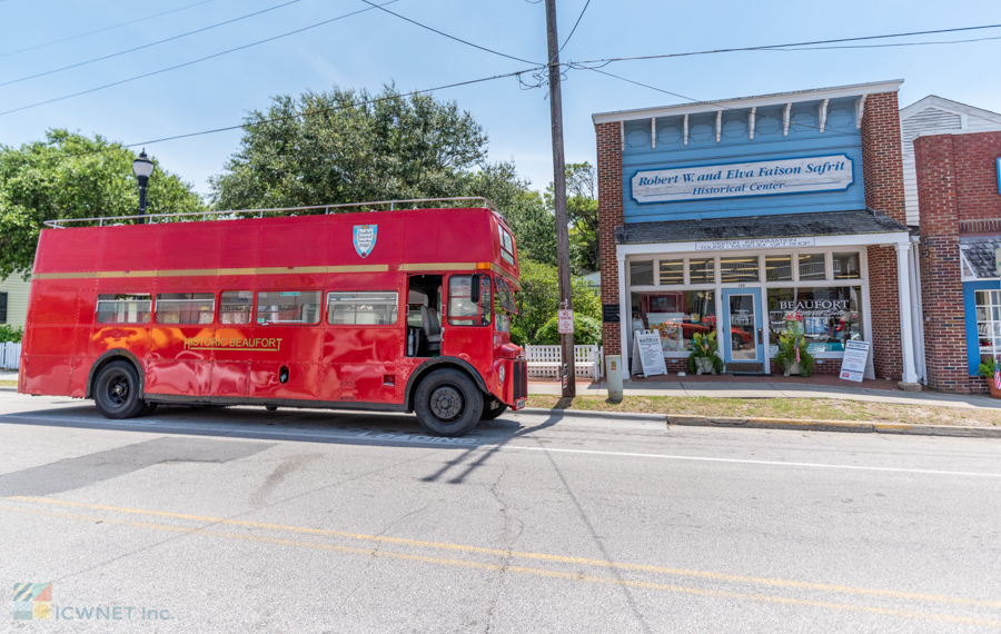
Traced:
<path fill-rule="evenodd" d="M 284 531 L 289 533 L 300 533 L 307 535 L 324 535 L 329 537 L 340 537 L 346 539 L 357 539 L 365 542 L 376 542 L 383 544 L 399 544 L 404 546 L 415 546 L 419 548 L 435 548 L 443 551 L 455 551 L 462 553 L 475 553 L 479 555 L 490 555 L 497 557 L 535 559 L 544 562 L 553 562 L 561 564 L 574 564 L 584 566 L 595 566 L 602 568 L 614 568 L 623 571 L 633 571 L 642 573 L 664 574 L 672 576 L 705 578 L 721 582 L 747 583 L 756 585 L 765 585 L 771 587 L 784 587 L 795 590 L 814 590 L 821 592 L 831 592 L 840 594 L 856 594 L 864 596 L 879 596 L 884 598 L 900 598 L 906 601 L 921 601 L 929 603 L 945 603 L 953 605 L 972 605 L 978 607 L 1001 608 L 1001 601 L 988 601 L 977 598 L 964 598 L 953 596 L 940 596 L 933 594 L 920 594 L 911 592 L 901 592 L 892 590 L 853 587 L 834 584 L 823 584 L 813 582 L 802 582 L 792 579 L 776 579 L 769 577 L 752 577 L 743 575 L 732 575 L 725 573 L 714 573 L 706 571 L 690 571 L 684 568 L 670 568 L 663 566 L 652 566 L 644 564 L 630 564 L 622 562 L 606 562 L 602 559 L 588 559 L 583 557 L 568 557 L 564 555 L 551 555 L 545 553 L 525 553 L 518 551 L 504 551 L 498 548 L 484 548 L 482 546 L 467 546 L 462 544 L 446 544 L 440 542 L 423 542 L 418 539 L 406 539 L 403 537 L 386 537 L 380 535 L 364 535 L 358 533 L 346 533 L 341 531 L 330 531 L 326 528 L 309 528 L 306 526 L 288 526 L 284 524 L 267 524 L 262 522 L 249 522 L 245 519 L 227 519 L 225 517 L 207 517 L 202 515 L 188 515 L 184 513 L 170 513 L 167 511 L 146 511 L 141 508 L 125 508 L 119 506 L 106 506 L 101 504 L 86 504 L 82 502 L 70 502 L 62 499 L 52 499 L 46 497 L 26 497 L 12 496 L 8 499 L 17 499 L 20 502 L 33 502 L 41 504 L 50 504 L 58 506 L 76 506 L 81 508 L 92 508 L 97 511 L 110 511 L 115 513 L 129 513 L 137 515 L 151 515 L 158 517 L 170 517 L 174 519 L 188 519 L 194 522 L 204 522 L 207 524 L 226 524 L 230 526 L 244 526 L 248 528 L 262 528 L 267 531 Z"/>

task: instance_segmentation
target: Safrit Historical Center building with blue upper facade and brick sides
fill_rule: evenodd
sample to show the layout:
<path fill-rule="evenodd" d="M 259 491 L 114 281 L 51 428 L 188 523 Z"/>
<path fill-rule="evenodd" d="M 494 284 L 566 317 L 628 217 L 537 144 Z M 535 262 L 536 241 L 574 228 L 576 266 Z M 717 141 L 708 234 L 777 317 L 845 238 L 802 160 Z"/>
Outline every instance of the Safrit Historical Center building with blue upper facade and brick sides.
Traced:
<path fill-rule="evenodd" d="M 916 384 L 900 85 L 594 115 L 606 354 L 655 330 L 677 372 L 715 330 L 727 372 L 770 373 L 797 321 L 815 372 L 865 340 L 868 377 Z"/>

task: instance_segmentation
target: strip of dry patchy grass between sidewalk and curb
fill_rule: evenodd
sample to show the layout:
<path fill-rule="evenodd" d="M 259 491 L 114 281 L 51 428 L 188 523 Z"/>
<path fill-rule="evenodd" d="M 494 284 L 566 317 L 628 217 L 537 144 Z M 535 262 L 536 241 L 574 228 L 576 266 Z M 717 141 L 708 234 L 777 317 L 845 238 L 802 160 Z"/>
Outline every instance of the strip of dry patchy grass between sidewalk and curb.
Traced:
<path fill-rule="evenodd" d="M 908 423 L 912 425 L 1001 425 L 1001 409 L 891 405 L 834 398 L 626 396 L 622 403 L 609 403 L 601 396 L 578 396 L 567 406 L 558 396 L 533 395 L 528 397 L 528 407 L 672 414 L 676 416 L 871 420 L 875 423 Z"/>

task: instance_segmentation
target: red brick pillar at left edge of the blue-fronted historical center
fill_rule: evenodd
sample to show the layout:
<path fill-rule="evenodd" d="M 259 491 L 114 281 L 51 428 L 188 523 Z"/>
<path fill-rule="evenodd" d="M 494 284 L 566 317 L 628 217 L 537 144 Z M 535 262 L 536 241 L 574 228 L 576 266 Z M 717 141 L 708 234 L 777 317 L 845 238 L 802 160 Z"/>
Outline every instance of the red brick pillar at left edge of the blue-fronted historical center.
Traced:
<path fill-rule="evenodd" d="M 623 225 L 622 216 L 622 136 L 620 125 L 598 123 L 598 248 L 602 260 L 602 304 L 618 305 L 618 259 L 615 257 L 615 227 Z M 630 318 L 628 315 L 625 316 Z M 606 355 L 623 355 L 621 324 L 602 324 L 602 345 Z"/>

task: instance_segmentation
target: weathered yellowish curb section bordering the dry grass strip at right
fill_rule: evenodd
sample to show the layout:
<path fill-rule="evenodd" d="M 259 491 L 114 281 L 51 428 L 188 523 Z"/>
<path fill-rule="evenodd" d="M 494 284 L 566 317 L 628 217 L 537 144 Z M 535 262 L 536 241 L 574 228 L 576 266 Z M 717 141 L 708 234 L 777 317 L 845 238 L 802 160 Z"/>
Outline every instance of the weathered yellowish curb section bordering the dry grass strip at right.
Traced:
<path fill-rule="evenodd" d="M 965 438 L 1001 438 L 1001 427 L 965 427 L 951 425 L 908 425 L 864 420 L 810 420 L 806 418 L 727 418 L 667 415 L 667 426 L 743 427 L 747 429 L 795 429 L 803 432 L 841 432 L 856 434 L 903 434 L 910 436 L 961 436 Z"/>

